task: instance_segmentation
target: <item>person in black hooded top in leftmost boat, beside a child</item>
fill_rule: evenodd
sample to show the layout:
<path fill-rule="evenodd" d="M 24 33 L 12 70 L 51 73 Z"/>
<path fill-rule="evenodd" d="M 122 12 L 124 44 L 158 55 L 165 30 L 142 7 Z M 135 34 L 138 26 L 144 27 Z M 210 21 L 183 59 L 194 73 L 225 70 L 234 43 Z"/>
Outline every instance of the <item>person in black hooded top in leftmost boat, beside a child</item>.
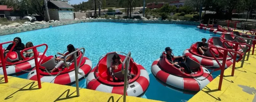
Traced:
<path fill-rule="evenodd" d="M 15 42 L 15 47 L 13 48 L 12 51 L 17 52 L 18 54 L 18 58 L 19 60 L 22 60 L 21 56 L 20 56 L 20 51 L 25 49 L 25 45 L 21 42 L 21 39 L 19 37 L 15 37 L 13 39 L 13 42 Z M 6 56 L 6 54 L 11 50 L 13 44 L 10 44 L 4 51 L 4 57 Z"/>

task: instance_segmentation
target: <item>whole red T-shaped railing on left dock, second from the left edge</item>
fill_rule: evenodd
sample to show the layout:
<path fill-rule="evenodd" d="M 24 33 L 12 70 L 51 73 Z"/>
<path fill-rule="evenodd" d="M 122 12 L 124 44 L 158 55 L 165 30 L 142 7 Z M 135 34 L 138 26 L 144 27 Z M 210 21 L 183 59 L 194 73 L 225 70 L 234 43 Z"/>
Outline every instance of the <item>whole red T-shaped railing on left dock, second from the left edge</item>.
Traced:
<path fill-rule="evenodd" d="M 41 46 L 45 46 L 45 50 L 44 50 L 44 53 L 43 55 L 41 56 L 40 60 L 38 61 L 38 55 L 37 55 L 37 49 L 38 47 L 41 47 Z M 41 79 L 40 79 L 40 73 L 39 73 L 39 63 L 41 62 L 41 60 L 43 59 L 47 49 L 48 49 L 48 46 L 46 44 L 41 44 L 41 45 L 37 45 L 37 46 L 34 46 L 34 47 L 30 47 L 30 48 L 27 48 L 27 49 L 24 49 L 20 52 L 20 55 L 23 59 L 25 59 L 25 57 L 23 56 L 23 52 L 24 51 L 27 51 L 29 49 L 33 49 L 33 53 L 34 53 L 34 59 L 35 59 L 35 66 L 36 66 L 36 75 L 37 75 L 37 82 L 38 82 L 38 88 L 41 89 L 42 86 L 41 86 Z"/>

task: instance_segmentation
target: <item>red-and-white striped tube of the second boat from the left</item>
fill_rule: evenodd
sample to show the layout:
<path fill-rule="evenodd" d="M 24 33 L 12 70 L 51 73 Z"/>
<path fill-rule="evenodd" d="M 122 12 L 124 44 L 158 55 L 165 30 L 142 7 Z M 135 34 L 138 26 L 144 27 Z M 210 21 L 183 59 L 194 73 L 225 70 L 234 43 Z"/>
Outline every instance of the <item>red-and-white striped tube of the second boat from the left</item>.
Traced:
<path fill-rule="evenodd" d="M 87 57 L 84 57 L 85 63 L 78 69 L 79 72 L 82 72 L 83 75 L 87 76 L 88 73 L 92 69 L 92 62 Z M 81 63 L 82 64 L 82 63 Z M 80 74 L 78 74 L 79 80 L 82 80 L 84 77 Z M 27 79 L 30 80 L 37 80 L 37 74 L 36 69 L 34 68 L 31 72 L 29 72 Z M 40 79 L 42 82 L 51 82 L 55 84 L 61 84 L 61 85 L 72 85 L 75 83 L 75 70 L 70 71 L 68 73 L 60 74 L 58 76 L 45 76 L 40 75 Z"/>

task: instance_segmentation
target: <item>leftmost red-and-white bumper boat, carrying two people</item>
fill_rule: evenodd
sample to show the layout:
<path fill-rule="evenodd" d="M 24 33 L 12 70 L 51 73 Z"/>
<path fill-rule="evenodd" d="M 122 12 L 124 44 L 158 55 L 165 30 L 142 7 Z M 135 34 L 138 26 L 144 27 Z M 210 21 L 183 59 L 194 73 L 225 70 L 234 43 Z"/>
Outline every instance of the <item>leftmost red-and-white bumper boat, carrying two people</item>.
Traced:
<path fill-rule="evenodd" d="M 5 49 L 3 49 L 4 51 Z M 19 75 L 22 75 L 24 73 L 26 73 L 25 71 L 30 71 L 32 70 L 34 67 L 35 67 L 35 59 L 34 57 L 25 57 L 25 59 L 23 59 L 22 61 L 19 61 L 19 57 L 18 57 L 18 54 L 20 53 L 17 53 L 15 51 L 12 51 L 12 49 L 6 53 L 6 57 L 5 57 L 5 64 L 6 64 L 6 72 L 7 72 L 7 75 L 9 76 L 13 76 L 13 75 L 16 75 L 16 76 L 19 76 Z M 40 60 L 40 58 L 45 58 L 46 55 L 42 52 L 37 52 L 37 57 L 38 57 L 38 60 Z M 3 73 L 3 67 L 2 67 L 2 61 L 0 59 L 0 74 L 4 74 Z M 25 70 L 25 71 L 22 71 L 22 70 Z"/>

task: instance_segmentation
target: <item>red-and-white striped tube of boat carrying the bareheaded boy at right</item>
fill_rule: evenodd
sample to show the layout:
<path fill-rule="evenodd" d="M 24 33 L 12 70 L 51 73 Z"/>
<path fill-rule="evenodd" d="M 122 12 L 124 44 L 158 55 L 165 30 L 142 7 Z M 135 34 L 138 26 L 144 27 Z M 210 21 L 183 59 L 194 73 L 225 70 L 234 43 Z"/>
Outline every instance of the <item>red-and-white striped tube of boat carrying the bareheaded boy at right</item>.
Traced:
<path fill-rule="evenodd" d="M 217 69 L 217 68 L 220 67 L 219 64 L 217 63 L 217 61 L 216 61 L 215 59 L 202 58 L 202 57 L 200 57 L 200 56 L 197 56 L 197 55 L 194 55 L 194 54 L 190 53 L 188 50 L 189 50 L 189 49 L 186 49 L 185 51 L 183 51 L 182 55 L 185 55 L 185 54 L 186 54 L 186 56 L 195 57 L 195 58 L 199 61 L 199 63 L 200 63 L 201 65 L 204 65 L 204 66 L 212 66 L 211 68 L 213 68 L 213 69 Z M 231 57 L 229 57 L 229 58 L 231 58 Z M 228 59 L 228 58 L 227 58 L 227 59 Z M 222 60 L 218 60 L 218 61 L 219 61 L 219 63 L 222 64 Z M 232 65 L 232 64 L 233 64 L 233 60 L 226 61 L 225 68 L 228 68 L 228 67 L 229 67 L 230 65 Z"/>

